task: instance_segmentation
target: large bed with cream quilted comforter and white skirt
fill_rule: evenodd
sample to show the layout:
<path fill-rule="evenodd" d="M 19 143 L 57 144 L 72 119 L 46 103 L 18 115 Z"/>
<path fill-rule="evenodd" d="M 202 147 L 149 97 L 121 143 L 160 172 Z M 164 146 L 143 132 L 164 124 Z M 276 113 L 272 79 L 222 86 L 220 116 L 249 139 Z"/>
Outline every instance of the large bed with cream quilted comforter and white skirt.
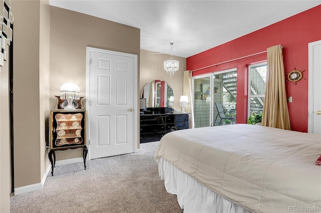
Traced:
<path fill-rule="evenodd" d="M 184 212 L 321 212 L 321 135 L 234 124 L 170 132 L 159 176 Z"/>

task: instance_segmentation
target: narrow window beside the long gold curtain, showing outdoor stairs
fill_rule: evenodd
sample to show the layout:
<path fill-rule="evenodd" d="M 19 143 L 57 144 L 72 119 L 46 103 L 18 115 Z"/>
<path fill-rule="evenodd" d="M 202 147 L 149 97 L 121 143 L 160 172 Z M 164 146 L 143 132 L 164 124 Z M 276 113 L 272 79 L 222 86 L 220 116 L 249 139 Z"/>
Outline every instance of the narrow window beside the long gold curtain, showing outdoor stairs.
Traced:
<path fill-rule="evenodd" d="M 263 112 L 265 82 L 266 82 L 266 62 L 249 66 L 248 85 L 248 116 L 253 112 L 258 114 Z"/>

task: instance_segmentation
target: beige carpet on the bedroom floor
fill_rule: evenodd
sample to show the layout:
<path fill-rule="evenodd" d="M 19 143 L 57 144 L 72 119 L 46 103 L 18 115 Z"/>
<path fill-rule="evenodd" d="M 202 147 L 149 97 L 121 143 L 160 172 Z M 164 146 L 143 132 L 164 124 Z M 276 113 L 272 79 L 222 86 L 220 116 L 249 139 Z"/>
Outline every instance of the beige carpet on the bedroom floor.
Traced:
<path fill-rule="evenodd" d="M 11 196 L 11 212 L 183 212 L 164 187 L 153 159 L 158 142 L 141 151 L 56 166 L 42 189 Z"/>

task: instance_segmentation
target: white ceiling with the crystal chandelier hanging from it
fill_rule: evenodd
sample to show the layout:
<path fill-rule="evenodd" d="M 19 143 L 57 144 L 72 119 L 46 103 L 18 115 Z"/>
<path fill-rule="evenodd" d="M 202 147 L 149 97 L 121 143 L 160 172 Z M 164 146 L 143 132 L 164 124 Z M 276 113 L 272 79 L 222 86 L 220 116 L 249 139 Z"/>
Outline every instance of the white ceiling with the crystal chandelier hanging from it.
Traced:
<path fill-rule="evenodd" d="M 312 8 L 321 0 L 49 0 L 140 29 L 140 48 L 189 57 Z"/>

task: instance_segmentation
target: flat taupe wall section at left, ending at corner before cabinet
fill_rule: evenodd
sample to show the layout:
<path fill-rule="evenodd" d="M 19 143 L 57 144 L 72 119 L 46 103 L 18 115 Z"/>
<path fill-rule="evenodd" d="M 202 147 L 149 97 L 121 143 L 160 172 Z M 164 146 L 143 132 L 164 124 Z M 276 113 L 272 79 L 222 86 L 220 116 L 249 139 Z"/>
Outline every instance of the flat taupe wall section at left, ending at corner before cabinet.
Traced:
<path fill-rule="evenodd" d="M 40 0 L 11 1 L 14 11 L 15 188 L 41 181 Z"/>

